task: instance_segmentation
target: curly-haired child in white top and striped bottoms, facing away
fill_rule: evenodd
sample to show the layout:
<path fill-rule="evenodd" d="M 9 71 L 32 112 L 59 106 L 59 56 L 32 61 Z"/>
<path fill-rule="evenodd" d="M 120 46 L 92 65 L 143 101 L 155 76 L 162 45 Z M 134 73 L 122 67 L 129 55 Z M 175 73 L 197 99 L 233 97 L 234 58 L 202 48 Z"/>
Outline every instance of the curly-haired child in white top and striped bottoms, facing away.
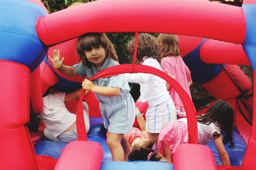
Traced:
<path fill-rule="evenodd" d="M 159 64 L 157 39 L 150 34 L 142 33 L 138 40 L 139 64 L 162 70 Z M 134 41 L 135 39 L 132 39 L 127 45 L 130 53 L 134 51 Z M 128 82 L 140 84 L 139 100 L 148 103 L 145 129 L 150 141 L 157 143 L 161 128 L 177 119 L 174 103 L 166 90 L 166 81 L 154 74 L 145 73 L 125 74 L 125 78 Z"/>

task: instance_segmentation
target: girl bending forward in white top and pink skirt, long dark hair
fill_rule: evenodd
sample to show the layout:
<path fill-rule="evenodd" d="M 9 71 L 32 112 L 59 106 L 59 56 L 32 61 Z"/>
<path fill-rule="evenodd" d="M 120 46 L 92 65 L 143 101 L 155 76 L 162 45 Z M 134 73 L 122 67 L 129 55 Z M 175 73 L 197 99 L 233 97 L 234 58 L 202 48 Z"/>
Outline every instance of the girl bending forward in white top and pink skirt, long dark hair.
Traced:
<path fill-rule="evenodd" d="M 204 115 L 197 118 L 198 143 L 206 145 L 212 139 L 220 155 L 223 166 L 230 166 L 228 153 L 224 145 L 234 148 L 233 139 L 234 111 L 232 106 L 223 100 L 216 101 Z M 172 153 L 182 143 L 189 143 L 188 124 L 186 118 L 166 124 L 159 134 L 157 149 L 172 163 Z"/>

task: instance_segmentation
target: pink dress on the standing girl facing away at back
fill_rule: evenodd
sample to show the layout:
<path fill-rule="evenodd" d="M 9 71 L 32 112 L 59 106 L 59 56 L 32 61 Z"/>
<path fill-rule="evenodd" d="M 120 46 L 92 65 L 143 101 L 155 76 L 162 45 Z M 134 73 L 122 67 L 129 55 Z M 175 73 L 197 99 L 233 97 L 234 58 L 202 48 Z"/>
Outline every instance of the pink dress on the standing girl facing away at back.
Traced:
<path fill-rule="evenodd" d="M 181 87 L 183 87 L 183 89 L 188 93 L 189 97 L 191 97 L 189 90 L 189 86 L 192 85 L 191 73 L 182 58 L 180 56 L 164 57 L 161 60 L 161 67 L 164 73 L 172 75 L 181 85 Z M 177 94 L 172 86 L 169 89 L 169 93 L 173 99 L 176 110 L 184 111 L 184 105 L 179 97 L 179 94 Z M 177 114 L 179 115 L 179 113 Z"/>

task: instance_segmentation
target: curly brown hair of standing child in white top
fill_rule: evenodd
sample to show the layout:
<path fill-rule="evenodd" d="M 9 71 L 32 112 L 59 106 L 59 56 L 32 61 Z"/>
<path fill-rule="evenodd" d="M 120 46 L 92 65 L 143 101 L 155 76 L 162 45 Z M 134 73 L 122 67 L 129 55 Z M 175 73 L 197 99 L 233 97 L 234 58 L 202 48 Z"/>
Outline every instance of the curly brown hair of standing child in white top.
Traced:
<path fill-rule="evenodd" d="M 131 41 L 127 43 L 127 50 L 131 55 L 134 52 L 134 44 L 135 38 L 131 39 Z M 143 57 L 145 56 L 157 59 L 158 62 L 161 60 L 156 37 L 147 33 L 141 33 L 139 34 L 137 59 L 142 61 Z"/>

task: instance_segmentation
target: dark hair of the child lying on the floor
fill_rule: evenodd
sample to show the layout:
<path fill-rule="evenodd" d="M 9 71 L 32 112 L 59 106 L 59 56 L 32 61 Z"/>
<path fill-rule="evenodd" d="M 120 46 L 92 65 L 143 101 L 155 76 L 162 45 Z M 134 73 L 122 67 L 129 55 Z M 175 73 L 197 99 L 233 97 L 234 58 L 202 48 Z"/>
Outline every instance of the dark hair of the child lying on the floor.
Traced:
<path fill-rule="evenodd" d="M 147 160 L 148 155 L 150 152 L 152 152 L 151 148 L 154 145 L 154 143 L 149 142 L 147 146 L 145 147 L 139 147 L 134 146 L 134 149 L 132 149 L 132 152 L 129 154 L 128 159 L 129 160 Z M 160 160 L 161 157 L 157 157 L 157 154 L 152 155 L 150 160 Z"/>

